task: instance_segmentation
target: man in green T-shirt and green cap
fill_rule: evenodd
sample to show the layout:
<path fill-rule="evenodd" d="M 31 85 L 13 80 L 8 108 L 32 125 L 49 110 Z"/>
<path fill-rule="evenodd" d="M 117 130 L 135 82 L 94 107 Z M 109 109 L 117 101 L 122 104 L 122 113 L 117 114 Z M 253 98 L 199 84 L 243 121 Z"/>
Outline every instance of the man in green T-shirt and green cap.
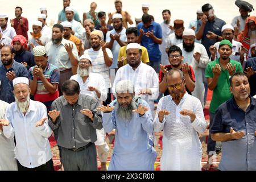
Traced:
<path fill-rule="evenodd" d="M 209 108 L 210 126 L 212 126 L 218 106 L 232 98 L 229 78 L 234 73 L 243 72 L 241 63 L 229 57 L 232 54 L 232 43 L 230 43 L 229 40 L 221 40 L 218 53 L 220 53 L 220 58 L 208 63 L 205 70 L 205 77 L 207 77 L 209 89 L 213 90 L 212 101 L 210 102 Z M 215 151 L 216 142 L 209 137 L 207 142 L 208 163 L 203 166 L 204 169 L 208 170 L 212 166 L 209 159 Z"/>

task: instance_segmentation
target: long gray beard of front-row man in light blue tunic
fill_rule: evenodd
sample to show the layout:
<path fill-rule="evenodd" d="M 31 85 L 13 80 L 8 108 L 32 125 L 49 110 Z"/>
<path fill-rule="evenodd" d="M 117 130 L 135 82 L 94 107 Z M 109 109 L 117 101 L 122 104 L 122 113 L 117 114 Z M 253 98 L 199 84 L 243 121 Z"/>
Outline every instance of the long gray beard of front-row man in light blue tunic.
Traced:
<path fill-rule="evenodd" d="M 137 109 L 135 97 L 133 97 L 133 100 L 127 107 L 122 107 L 118 102 L 117 106 L 115 107 L 117 109 L 117 115 L 119 118 L 130 120 L 131 116 L 133 115 L 133 110 Z"/>

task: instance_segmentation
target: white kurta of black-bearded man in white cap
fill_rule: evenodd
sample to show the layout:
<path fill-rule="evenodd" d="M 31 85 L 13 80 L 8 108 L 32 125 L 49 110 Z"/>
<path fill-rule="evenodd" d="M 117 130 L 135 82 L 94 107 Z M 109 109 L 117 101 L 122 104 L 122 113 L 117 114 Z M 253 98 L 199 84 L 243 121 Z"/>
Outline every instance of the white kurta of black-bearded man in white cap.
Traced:
<path fill-rule="evenodd" d="M 196 98 L 198 98 L 202 106 L 204 106 L 205 88 L 204 88 L 203 79 L 204 79 L 205 68 L 207 67 L 207 64 L 210 62 L 210 59 L 207 55 L 207 51 L 205 47 L 199 43 L 195 43 L 195 48 L 191 52 L 185 51 L 182 43 L 179 44 L 178 46 L 182 50 L 182 55 L 184 56 L 183 62 L 191 65 L 195 73 L 196 82 L 195 82 L 195 89 L 192 92 L 192 96 L 195 96 Z M 195 52 L 199 52 L 201 54 L 199 63 L 193 57 L 193 54 Z"/>

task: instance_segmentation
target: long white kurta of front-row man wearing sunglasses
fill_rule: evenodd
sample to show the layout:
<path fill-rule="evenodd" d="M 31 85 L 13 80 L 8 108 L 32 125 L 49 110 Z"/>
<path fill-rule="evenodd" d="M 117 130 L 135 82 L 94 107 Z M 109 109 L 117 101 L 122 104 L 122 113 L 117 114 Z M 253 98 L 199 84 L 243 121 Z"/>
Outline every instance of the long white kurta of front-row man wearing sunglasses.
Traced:
<path fill-rule="evenodd" d="M 170 111 L 170 114 L 164 116 L 162 123 L 159 122 L 158 114 L 154 119 L 155 132 L 163 130 L 161 170 L 201 170 L 203 149 L 197 133 L 204 133 L 207 123 L 200 101 L 185 93 L 179 105 L 176 105 L 171 96 L 165 96 L 160 99 L 156 113 L 163 109 Z M 180 114 L 183 109 L 192 110 L 196 114 L 194 122 L 191 122 L 189 116 Z"/>

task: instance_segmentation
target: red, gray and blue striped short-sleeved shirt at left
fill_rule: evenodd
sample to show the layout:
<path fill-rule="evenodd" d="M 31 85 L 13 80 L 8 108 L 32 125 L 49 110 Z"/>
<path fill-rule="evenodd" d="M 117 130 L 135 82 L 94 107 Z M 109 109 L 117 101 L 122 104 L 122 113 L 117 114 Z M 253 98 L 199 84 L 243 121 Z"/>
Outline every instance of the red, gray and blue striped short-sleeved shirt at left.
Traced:
<path fill-rule="evenodd" d="M 33 70 L 35 67 L 31 67 L 30 70 L 28 71 L 28 80 L 33 81 L 34 75 L 33 75 Z M 43 75 L 46 78 L 48 82 L 51 84 L 59 84 L 60 82 L 60 71 L 59 69 L 52 64 L 47 63 L 46 69 L 43 71 Z M 49 91 L 46 89 L 46 87 L 43 84 L 43 81 L 38 77 L 38 86 L 36 88 L 36 93 L 34 95 L 34 100 L 39 101 L 39 102 L 48 102 L 48 101 L 54 101 L 56 98 L 59 97 L 59 90 L 56 89 L 55 93 L 51 94 Z M 49 105 L 48 107 L 51 107 Z"/>

